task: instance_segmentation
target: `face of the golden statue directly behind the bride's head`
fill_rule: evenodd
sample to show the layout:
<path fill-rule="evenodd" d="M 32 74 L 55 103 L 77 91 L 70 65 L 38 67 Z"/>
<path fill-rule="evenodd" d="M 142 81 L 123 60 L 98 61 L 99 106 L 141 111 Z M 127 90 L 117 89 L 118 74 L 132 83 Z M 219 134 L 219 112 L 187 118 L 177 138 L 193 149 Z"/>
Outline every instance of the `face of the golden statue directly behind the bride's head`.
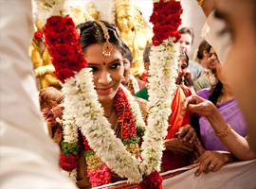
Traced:
<path fill-rule="evenodd" d="M 117 12 L 117 19 L 121 31 L 130 31 L 135 22 L 135 13 L 131 9 L 121 9 Z"/>

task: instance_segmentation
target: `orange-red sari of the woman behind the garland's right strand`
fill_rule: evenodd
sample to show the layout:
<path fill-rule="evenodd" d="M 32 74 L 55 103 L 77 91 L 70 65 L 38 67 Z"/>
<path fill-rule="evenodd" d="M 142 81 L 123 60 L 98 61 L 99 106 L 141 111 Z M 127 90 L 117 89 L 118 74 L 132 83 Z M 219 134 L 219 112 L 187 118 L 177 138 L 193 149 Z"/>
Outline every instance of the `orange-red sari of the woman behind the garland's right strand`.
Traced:
<path fill-rule="evenodd" d="M 192 94 L 191 90 L 180 84 L 173 94 L 172 114 L 169 120 L 169 128 L 166 139 L 175 137 L 175 133 L 181 128 L 190 124 L 192 112 L 187 111 L 185 116 L 180 115 L 180 102 Z M 190 157 L 178 156 L 169 150 L 163 152 L 162 165 L 164 171 L 173 170 L 190 164 Z"/>

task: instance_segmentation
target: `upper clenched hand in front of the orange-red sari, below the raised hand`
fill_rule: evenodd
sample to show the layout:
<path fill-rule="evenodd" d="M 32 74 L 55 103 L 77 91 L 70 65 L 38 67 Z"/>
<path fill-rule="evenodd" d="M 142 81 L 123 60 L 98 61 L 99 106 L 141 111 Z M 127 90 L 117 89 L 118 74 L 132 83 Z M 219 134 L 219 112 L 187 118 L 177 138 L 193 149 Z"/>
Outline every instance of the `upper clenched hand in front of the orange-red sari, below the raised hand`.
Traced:
<path fill-rule="evenodd" d="M 177 135 L 178 139 L 182 139 L 184 142 L 188 141 L 190 144 L 200 145 L 195 130 L 192 128 L 191 125 L 186 125 L 180 128 L 178 132 L 175 133 L 175 135 Z"/>

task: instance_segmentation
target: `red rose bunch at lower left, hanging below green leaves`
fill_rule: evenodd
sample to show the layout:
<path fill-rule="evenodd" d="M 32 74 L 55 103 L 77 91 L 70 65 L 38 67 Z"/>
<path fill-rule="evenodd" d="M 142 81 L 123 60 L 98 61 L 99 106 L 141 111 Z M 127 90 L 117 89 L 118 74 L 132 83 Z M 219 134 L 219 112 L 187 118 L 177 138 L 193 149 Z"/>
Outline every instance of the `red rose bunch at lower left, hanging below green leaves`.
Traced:
<path fill-rule="evenodd" d="M 78 156 L 69 155 L 66 157 L 64 155 L 64 153 L 61 153 L 60 164 L 61 164 L 62 169 L 70 172 L 70 171 L 74 170 L 75 168 L 77 168 Z"/>

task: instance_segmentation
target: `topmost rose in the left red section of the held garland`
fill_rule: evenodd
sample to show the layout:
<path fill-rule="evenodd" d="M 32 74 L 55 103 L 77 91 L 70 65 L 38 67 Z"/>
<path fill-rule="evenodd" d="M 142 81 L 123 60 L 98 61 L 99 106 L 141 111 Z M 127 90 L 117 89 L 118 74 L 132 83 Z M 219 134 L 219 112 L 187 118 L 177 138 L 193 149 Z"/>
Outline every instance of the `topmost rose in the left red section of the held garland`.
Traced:
<path fill-rule="evenodd" d="M 65 27 L 64 18 L 62 16 L 51 16 L 47 19 L 45 28 L 57 33 L 61 32 Z"/>

